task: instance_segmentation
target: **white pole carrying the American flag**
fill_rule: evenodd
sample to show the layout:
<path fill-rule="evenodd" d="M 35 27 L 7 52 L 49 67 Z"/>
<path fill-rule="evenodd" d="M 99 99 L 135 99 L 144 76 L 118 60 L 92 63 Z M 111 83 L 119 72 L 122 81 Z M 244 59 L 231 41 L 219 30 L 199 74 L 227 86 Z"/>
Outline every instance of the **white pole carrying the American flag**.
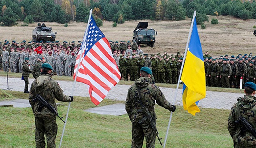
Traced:
<path fill-rule="evenodd" d="M 88 32 L 88 28 L 89 28 L 89 23 L 90 23 L 90 19 L 91 19 L 91 15 L 92 15 L 92 9 L 90 10 L 89 19 L 88 19 L 87 27 L 86 27 L 86 30 L 85 30 L 85 33 L 84 33 L 84 37 L 87 36 L 87 32 Z M 86 41 L 84 41 L 84 42 L 86 42 Z M 81 48 L 82 48 L 82 46 L 81 46 Z M 71 95 L 70 95 L 70 96 L 73 96 L 73 93 L 74 93 L 75 84 L 76 84 L 76 78 L 77 78 L 77 74 L 78 74 L 78 69 L 79 69 L 79 67 L 80 67 L 80 62 L 81 62 L 81 59 L 82 59 L 82 57 L 83 57 L 82 54 L 84 53 L 84 49 L 85 49 L 85 48 L 86 48 L 86 45 L 85 45 L 84 48 L 81 49 L 82 51 L 81 51 L 81 54 L 80 54 L 78 66 L 77 66 L 77 69 L 76 69 L 76 76 L 75 76 L 75 80 L 74 80 L 74 84 L 73 84 L 73 87 L 72 87 L 72 91 L 71 91 Z M 67 111 L 67 115 L 66 115 L 66 119 L 65 119 L 65 124 L 64 124 L 63 130 L 62 130 L 62 135 L 61 135 L 61 139 L 60 139 L 59 148 L 60 148 L 61 143 L 62 143 L 62 139 L 63 139 L 63 135 L 64 135 L 64 131 L 65 131 L 67 119 L 68 119 L 68 112 L 69 112 L 70 104 L 71 104 L 71 102 L 69 102 L 69 104 L 68 104 L 68 111 Z"/>

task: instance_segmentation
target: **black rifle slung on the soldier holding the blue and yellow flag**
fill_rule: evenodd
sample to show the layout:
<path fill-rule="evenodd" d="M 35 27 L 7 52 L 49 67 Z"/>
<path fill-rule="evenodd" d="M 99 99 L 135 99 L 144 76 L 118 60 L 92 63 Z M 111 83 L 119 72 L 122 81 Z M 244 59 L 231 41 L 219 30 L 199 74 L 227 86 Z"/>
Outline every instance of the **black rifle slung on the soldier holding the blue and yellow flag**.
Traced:
<path fill-rule="evenodd" d="M 158 133 L 158 131 L 157 131 L 155 121 L 154 121 L 154 119 L 152 118 L 151 114 L 149 113 L 148 108 L 147 108 L 146 106 L 144 106 L 144 104 L 143 104 L 142 101 L 141 101 L 140 88 L 138 89 L 138 92 L 139 92 L 140 98 L 134 97 L 134 99 L 135 99 L 136 101 L 138 101 L 138 102 L 140 103 L 140 105 L 142 106 L 142 109 L 141 109 L 141 110 L 138 110 L 138 112 L 143 112 L 143 113 L 145 114 L 145 116 L 146 116 L 146 117 L 142 118 L 142 119 L 139 121 L 139 124 L 141 125 L 142 123 L 144 123 L 145 121 L 148 120 L 148 122 L 149 122 L 150 126 L 152 127 L 152 129 L 153 129 L 154 131 L 156 131 L 156 136 L 157 136 L 157 138 L 158 138 L 158 141 L 160 142 L 161 145 L 163 145 L 162 142 L 161 142 L 161 139 L 162 139 L 162 138 L 159 138 L 159 136 L 158 136 L 159 133 Z"/>

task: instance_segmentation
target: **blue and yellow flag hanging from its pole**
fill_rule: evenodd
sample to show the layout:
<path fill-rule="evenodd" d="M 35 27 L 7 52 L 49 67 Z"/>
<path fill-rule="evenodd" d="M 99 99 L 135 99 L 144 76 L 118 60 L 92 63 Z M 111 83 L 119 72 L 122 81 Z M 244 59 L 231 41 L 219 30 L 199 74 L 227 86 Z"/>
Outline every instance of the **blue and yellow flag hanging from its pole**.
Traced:
<path fill-rule="evenodd" d="M 192 35 L 189 42 L 189 48 L 181 76 L 183 81 L 183 107 L 188 113 L 195 115 L 200 112 L 197 107 L 199 100 L 205 98 L 206 84 L 202 47 L 197 31 L 196 18 Z"/>

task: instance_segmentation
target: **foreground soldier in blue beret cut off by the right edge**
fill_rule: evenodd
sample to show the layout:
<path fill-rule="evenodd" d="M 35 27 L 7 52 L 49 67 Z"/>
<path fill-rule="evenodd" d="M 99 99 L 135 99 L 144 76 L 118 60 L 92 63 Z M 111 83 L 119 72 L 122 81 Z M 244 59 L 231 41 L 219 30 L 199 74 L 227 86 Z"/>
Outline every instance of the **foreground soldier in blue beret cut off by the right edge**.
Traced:
<path fill-rule="evenodd" d="M 228 131 L 233 139 L 234 148 L 255 148 L 256 137 L 242 127 L 239 117 L 244 117 L 255 129 L 256 127 L 256 85 L 253 82 L 245 83 L 244 97 L 237 99 L 237 103 L 231 108 L 228 118 Z"/>

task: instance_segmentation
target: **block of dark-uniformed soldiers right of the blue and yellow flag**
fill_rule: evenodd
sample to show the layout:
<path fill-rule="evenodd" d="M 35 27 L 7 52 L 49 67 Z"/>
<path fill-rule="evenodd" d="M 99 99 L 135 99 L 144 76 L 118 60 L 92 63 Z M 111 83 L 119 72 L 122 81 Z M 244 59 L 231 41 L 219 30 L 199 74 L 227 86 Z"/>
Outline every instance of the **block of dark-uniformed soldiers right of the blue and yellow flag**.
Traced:
<path fill-rule="evenodd" d="M 203 57 L 207 86 L 239 88 L 241 78 L 243 88 L 246 82 L 256 82 L 256 56 L 252 53 L 212 58 L 205 51 Z"/>

